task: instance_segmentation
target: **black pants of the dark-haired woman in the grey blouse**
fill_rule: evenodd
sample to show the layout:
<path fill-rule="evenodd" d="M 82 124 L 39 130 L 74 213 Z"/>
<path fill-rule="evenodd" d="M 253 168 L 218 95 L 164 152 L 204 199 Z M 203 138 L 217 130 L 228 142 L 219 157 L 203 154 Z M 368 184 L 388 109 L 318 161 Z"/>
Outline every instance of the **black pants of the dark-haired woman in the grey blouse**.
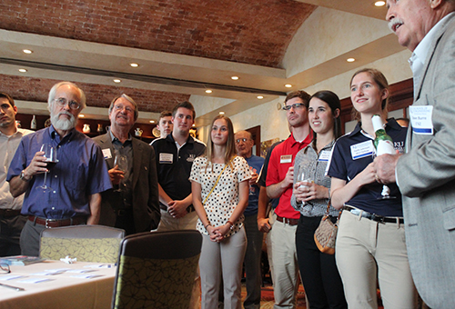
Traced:
<path fill-rule="evenodd" d="M 321 253 L 314 242 L 321 218 L 300 215 L 296 232 L 298 268 L 309 308 L 348 308 L 335 255 Z"/>

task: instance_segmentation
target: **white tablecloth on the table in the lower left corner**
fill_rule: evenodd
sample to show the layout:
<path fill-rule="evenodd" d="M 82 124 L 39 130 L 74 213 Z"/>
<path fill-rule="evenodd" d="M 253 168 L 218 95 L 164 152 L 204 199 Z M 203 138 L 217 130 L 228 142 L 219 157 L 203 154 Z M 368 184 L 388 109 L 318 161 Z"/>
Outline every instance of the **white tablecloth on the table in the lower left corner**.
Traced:
<path fill-rule="evenodd" d="M 52 269 L 94 269 L 87 265 L 100 265 L 96 263 L 65 264 L 60 261 L 45 261 L 43 263 L 25 266 L 10 266 L 11 274 L 0 274 L 0 283 L 25 288 L 25 291 L 0 286 L 0 308 L 110 308 L 114 291 L 116 267 L 96 268 L 94 272 L 86 274 L 99 274 L 95 278 L 76 278 L 76 273 L 62 273 L 54 275 L 35 275 Z M 9 275 L 24 275 L 22 278 L 2 280 Z M 37 284 L 21 283 L 31 278 L 48 278 Z"/>

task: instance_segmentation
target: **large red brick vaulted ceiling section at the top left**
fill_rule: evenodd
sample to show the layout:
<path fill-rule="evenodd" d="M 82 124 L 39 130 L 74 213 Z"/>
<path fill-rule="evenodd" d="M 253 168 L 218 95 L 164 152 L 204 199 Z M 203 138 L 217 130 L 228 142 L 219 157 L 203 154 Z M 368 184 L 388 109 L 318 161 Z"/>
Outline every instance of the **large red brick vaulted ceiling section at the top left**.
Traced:
<path fill-rule="evenodd" d="M 278 67 L 314 9 L 294 0 L 2 0 L 0 28 Z"/>

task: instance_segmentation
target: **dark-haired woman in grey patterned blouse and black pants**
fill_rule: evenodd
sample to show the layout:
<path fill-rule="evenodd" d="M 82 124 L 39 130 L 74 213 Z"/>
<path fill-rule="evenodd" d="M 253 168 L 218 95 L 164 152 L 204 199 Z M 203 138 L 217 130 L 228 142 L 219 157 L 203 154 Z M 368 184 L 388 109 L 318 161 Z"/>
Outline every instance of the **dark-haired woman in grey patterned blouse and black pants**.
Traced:
<path fill-rule="evenodd" d="M 315 231 L 329 204 L 330 178 L 326 168 L 335 140 L 341 135 L 340 111 L 339 97 L 331 91 L 319 91 L 311 96 L 308 121 L 313 130 L 313 142 L 300 150 L 294 161 L 291 204 L 300 212 L 297 258 L 309 308 L 348 308 L 335 255 L 321 253 L 314 241 Z M 300 181 L 299 172 L 310 181 Z M 335 223 L 338 214 L 338 210 L 330 207 L 329 220 Z"/>

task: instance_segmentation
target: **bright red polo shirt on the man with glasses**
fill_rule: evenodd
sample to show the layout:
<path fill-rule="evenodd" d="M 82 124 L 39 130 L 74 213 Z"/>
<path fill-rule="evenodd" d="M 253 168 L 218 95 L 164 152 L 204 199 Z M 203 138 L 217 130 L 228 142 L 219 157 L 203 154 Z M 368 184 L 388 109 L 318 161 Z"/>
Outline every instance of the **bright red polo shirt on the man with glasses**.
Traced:
<path fill-rule="evenodd" d="M 296 142 L 293 135 L 290 135 L 280 145 L 277 145 L 270 154 L 270 161 L 268 162 L 267 180 L 266 184 L 278 184 L 281 182 L 290 166 L 294 165 L 294 159 L 300 149 L 305 148 L 313 139 L 312 132 L 303 140 L 302 143 Z M 281 194 L 279 197 L 279 204 L 275 209 L 275 214 L 288 219 L 298 219 L 300 213 L 296 211 L 290 204 L 290 198 L 292 196 L 292 185 Z"/>

